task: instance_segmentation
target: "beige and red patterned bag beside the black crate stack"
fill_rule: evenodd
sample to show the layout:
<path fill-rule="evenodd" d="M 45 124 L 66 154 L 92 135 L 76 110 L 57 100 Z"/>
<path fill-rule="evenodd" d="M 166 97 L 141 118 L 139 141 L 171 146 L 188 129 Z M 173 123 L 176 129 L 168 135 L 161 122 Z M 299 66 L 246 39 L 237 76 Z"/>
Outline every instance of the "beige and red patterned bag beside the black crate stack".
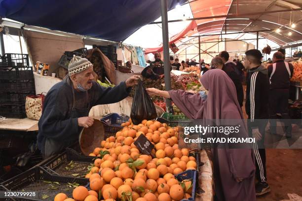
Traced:
<path fill-rule="evenodd" d="M 45 95 L 37 94 L 26 96 L 25 111 L 26 116 L 33 120 L 39 120 L 42 115 L 42 108 Z"/>

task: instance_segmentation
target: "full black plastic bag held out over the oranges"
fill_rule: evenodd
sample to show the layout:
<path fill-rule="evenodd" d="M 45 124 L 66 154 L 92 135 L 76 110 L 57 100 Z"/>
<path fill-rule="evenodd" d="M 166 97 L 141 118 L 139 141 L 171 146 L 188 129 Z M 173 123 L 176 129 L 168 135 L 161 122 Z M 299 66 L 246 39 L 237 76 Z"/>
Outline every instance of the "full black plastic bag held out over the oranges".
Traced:
<path fill-rule="evenodd" d="M 157 117 L 155 106 L 141 80 L 135 89 L 130 117 L 136 125 L 143 120 L 153 120 Z"/>

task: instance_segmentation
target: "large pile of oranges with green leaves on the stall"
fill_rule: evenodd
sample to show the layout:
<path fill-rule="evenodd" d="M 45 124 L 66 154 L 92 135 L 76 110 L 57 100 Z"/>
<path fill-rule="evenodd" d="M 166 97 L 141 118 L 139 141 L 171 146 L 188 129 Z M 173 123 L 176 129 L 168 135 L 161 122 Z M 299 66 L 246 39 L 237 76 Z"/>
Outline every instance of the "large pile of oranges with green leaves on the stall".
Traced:
<path fill-rule="evenodd" d="M 174 176 L 197 168 L 189 150 L 178 148 L 177 127 L 147 120 L 134 125 L 131 119 L 122 126 L 115 137 L 103 140 L 89 154 L 99 157 L 85 176 L 91 190 L 78 186 L 73 199 L 60 193 L 54 201 L 180 201 L 191 197 L 192 181 L 178 181 Z M 154 145 L 155 158 L 141 155 L 134 145 L 142 134 Z"/>

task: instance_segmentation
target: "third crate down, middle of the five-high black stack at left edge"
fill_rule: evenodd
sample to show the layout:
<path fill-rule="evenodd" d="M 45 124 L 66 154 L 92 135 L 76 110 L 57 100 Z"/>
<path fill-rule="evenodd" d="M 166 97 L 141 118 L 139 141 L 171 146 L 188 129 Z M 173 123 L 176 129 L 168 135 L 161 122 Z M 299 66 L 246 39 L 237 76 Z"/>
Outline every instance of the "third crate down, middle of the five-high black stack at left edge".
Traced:
<path fill-rule="evenodd" d="M 34 91 L 35 80 L 34 79 L 14 79 L 14 80 L 0 80 L 0 92 L 22 92 L 22 91 Z"/>

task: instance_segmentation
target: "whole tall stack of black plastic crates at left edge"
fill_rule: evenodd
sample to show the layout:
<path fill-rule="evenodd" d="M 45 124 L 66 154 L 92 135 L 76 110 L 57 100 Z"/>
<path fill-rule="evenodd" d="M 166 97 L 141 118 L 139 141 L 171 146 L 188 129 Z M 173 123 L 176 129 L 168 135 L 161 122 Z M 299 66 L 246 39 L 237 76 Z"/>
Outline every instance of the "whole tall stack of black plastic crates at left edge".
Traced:
<path fill-rule="evenodd" d="M 0 57 L 0 116 L 26 118 L 26 96 L 35 94 L 28 54 L 7 53 Z"/>

